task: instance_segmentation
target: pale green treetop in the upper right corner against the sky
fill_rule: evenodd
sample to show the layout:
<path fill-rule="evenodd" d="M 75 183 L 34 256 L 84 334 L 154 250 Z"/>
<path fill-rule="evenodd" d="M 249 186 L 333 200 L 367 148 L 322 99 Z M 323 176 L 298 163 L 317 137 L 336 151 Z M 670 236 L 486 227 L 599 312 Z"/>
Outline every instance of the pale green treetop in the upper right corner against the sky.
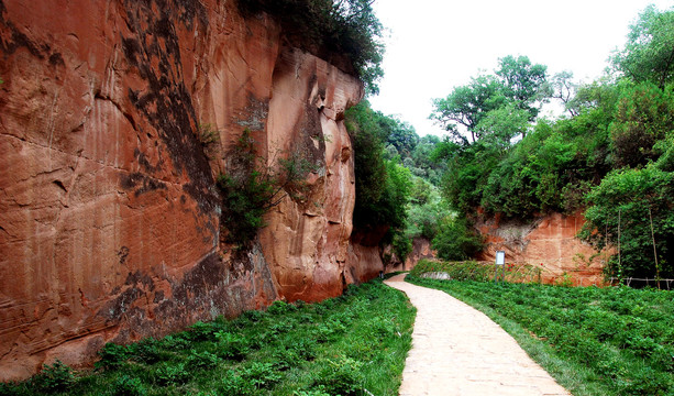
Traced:
<path fill-rule="evenodd" d="M 630 26 L 614 67 L 637 82 L 652 81 L 660 89 L 674 81 L 674 8 L 659 12 L 649 6 Z"/>

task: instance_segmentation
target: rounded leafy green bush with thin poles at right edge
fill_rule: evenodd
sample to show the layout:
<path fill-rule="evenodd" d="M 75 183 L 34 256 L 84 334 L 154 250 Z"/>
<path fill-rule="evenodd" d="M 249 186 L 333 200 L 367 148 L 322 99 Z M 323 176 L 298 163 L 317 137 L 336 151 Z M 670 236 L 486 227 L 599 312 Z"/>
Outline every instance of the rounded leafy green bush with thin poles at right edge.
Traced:
<path fill-rule="evenodd" d="M 598 249 L 620 246 L 609 275 L 674 277 L 674 173 L 655 165 L 615 170 L 587 198 L 582 238 Z"/>

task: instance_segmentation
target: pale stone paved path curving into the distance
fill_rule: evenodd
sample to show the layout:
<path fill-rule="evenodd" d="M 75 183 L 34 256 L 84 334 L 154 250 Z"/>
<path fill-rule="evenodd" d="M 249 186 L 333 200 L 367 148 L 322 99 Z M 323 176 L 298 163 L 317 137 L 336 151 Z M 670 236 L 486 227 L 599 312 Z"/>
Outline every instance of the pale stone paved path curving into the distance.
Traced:
<path fill-rule="evenodd" d="M 487 316 L 404 278 L 386 280 L 417 307 L 400 396 L 571 395 Z"/>

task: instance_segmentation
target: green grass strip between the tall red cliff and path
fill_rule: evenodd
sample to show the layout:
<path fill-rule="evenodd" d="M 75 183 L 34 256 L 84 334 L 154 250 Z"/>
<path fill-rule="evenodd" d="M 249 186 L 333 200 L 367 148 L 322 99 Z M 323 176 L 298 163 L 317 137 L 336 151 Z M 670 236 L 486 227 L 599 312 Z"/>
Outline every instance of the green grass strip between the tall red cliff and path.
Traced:
<path fill-rule="evenodd" d="M 375 279 L 319 304 L 276 301 L 162 340 L 107 344 L 95 371 L 57 363 L 0 384 L 0 395 L 397 395 L 415 316 Z"/>

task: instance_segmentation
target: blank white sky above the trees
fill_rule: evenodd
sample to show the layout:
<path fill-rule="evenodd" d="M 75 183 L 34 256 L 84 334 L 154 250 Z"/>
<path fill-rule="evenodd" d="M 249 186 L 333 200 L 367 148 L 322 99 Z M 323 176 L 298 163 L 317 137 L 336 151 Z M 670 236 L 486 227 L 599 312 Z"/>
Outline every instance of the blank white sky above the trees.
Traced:
<path fill-rule="evenodd" d="M 526 55 L 553 75 L 599 77 L 611 51 L 622 47 L 629 24 L 650 3 L 673 0 L 376 0 L 388 29 L 385 76 L 374 109 L 396 114 L 419 135 L 444 131 L 428 120 L 433 98 L 446 97 L 498 58 Z"/>

